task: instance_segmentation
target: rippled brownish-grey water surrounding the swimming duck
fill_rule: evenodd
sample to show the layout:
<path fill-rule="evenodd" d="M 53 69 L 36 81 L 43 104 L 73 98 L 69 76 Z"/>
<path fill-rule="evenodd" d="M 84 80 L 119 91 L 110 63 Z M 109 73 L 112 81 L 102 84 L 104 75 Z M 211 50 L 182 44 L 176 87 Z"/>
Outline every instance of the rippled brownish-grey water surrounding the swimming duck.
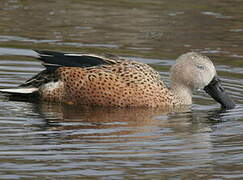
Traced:
<path fill-rule="evenodd" d="M 0 95 L 0 179 L 243 179 L 243 9 L 232 1 L 0 1 L 0 87 L 43 67 L 31 49 L 112 53 L 169 82 L 182 53 L 209 56 L 237 103 L 80 108 Z M 28 56 L 28 57 L 27 57 Z"/>

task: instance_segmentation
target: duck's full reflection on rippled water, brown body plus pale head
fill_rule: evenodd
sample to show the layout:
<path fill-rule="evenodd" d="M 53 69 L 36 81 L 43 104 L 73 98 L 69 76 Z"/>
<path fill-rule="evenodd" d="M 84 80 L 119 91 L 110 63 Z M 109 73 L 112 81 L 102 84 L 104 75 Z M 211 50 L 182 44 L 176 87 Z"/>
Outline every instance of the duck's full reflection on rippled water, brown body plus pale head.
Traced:
<path fill-rule="evenodd" d="M 120 109 L 43 103 L 38 107 L 47 130 L 57 132 L 60 142 L 82 144 L 108 160 L 142 156 L 142 161 L 149 161 L 148 155 L 162 164 L 164 158 L 169 159 L 168 167 L 171 163 L 181 167 L 211 163 L 211 124 L 203 123 L 207 115 L 194 115 L 188 106 Z"/>

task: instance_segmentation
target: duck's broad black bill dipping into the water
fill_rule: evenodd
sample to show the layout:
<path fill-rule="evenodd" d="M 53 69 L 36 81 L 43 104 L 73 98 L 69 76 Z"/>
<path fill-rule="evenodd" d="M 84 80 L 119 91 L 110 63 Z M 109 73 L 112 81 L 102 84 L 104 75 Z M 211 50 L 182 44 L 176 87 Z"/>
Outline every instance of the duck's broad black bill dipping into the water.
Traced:
<path fill-rule="evenodd" d="M 218 103 L 221 104 L 224 109 L 235 108 L 235 103 L 230 99 L 225 92 L 218 77 L 214 77 L 213 80 L 204 88 L 204 90 Z"/>

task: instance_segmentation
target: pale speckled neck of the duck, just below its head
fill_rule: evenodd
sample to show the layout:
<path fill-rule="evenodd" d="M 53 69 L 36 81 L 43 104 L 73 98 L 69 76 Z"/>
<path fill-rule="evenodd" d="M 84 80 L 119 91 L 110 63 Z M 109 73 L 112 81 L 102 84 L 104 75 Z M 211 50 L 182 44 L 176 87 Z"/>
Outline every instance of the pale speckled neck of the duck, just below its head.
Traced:
<path fill-rule="evenodd" d="M 182 84 L 171 84 L 171 90 L 175 97 L 181 102 L 181 104 L 192 104 L 192 91 L 188 87 Z"/>

